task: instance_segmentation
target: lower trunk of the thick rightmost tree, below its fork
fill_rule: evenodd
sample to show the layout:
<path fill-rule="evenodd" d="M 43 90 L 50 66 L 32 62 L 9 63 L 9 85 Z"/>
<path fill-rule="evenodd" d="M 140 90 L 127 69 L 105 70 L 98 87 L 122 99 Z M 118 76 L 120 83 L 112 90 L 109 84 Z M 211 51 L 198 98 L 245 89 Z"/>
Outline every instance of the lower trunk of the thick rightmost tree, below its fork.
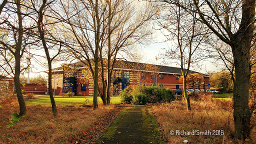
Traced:
<path fill-rule="evenodd" d="M 242 43 L 242 42 L 241 42 Z M 234 103 L 234 135 L 238 139 L 250 138 L 250 117 L 249 111 L 249 88 L 250 88 L 250 66 L 249 52 L 240 50 L 250 47 L 250 42 L 240 44 L 233 48 L 235 78 L 233 88 Z M 239 49 L 239 50 L 238 50 Z"/>

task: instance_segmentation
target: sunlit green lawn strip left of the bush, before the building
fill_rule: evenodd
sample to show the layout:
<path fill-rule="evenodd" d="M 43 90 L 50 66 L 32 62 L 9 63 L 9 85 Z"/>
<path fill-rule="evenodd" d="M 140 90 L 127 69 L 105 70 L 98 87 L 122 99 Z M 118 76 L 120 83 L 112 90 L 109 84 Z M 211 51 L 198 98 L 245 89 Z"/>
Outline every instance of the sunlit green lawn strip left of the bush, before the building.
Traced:
<path fill-rule="evenodd" d="M 57 105 L 81 105 L 84 104 L 85 98 L 88 99 L 86 104 L 92 104 L 93 97 L 54 97 L 54 100 Z M 25 103 L 26 105 L 51 105 L 50 98 L 26 99 Z M 102 100 L 98 97 L 98 104 L 100 103 L 102 103 Z M 121 98 L 119 96 L 111 96 L 110 103 L 121 103 Z"/>

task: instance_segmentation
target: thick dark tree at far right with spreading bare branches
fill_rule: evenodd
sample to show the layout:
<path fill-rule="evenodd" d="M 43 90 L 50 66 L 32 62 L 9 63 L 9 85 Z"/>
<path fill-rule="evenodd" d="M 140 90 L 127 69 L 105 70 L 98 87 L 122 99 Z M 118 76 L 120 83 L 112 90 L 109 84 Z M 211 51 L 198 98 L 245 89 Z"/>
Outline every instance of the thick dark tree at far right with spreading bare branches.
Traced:
<path fill-rule="evenodd" d="M 250 138 L 249 87 L 250 48 L 255 22 L 255 0 L 159 0 L 196 12 L 221 41 L 232 49 L 234 63 L 234 135 L 238 139 Z M 195 5 L 196 9 L 189 5 Z M 212 35 L 213 36 L 213 35 Z"/>

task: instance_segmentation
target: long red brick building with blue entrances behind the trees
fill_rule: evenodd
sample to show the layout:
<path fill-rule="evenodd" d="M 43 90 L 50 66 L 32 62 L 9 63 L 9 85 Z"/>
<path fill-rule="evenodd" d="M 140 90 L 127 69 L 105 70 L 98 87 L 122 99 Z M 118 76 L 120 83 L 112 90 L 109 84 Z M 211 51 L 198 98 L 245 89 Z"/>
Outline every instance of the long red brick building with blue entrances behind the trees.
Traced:
<path fill-rule="evenodd" d="M 178 67 L 138 63 L 117 60 L 113 68 L 111 77 L 111 94 L 117 95 L 127 85 L 144 84 L 144 85 L 159 85 L 164 88 L 171 88 L 175 91 L 177 88 L 182 88 L 182 83 L 178 81 L 181 75 L 181 70 Z M 72 64 L 62 64 L 61 67 L 52 70 L 52 90 L 55 95 L 65 92 L 74 92 L 75 95 L 93 95 L 93 79 L 88 72 L 87 66 L 82 62 Z M 102 87 L 101 75 L 99 71 L 99 88 Z M 106 68 L 104 69 L 104 77 Z M 195 71 L 189 71 L 195 73 Z M 195 88 L 204 91 L 209 85 L 209 76 L 202 74 L 204 82 L 197 83 Z M 106 78 L 104 78 L 106 79 Z M 192 88 L 192 85 L 188 85 Z"/>

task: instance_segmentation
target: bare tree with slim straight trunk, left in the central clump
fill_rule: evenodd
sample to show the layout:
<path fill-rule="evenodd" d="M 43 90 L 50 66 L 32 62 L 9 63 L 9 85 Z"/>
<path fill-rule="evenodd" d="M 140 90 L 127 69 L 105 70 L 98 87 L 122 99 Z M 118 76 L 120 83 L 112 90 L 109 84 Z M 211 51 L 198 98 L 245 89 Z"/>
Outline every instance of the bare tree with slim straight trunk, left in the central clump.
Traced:
<path fill-rule="evenodd" d="M 93 109 L 97 108 L 99 48 L 105 42 L 106 6 L 101 0 L 66 0 L 61 1 L 65 15 L 58 14 L 66 19 L 63 24 L 69 42 L 66 47 L 75 58 L 88 65 L 92 73 Z"/>

